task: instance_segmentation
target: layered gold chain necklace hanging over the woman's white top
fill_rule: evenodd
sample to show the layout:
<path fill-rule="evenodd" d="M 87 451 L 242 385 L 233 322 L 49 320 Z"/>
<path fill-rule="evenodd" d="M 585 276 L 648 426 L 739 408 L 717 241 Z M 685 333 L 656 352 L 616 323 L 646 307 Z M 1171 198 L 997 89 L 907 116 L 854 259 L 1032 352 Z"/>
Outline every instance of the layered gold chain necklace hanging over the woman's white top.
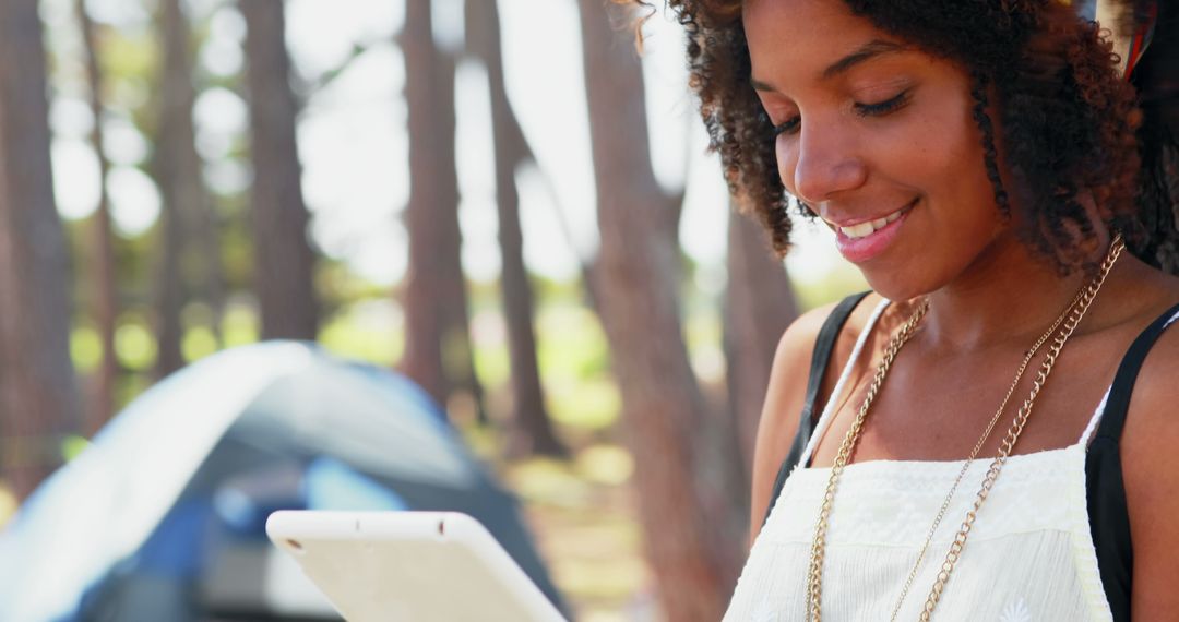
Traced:
<path fill-rule="evenodd" d="M 1027 356 L 1023 357 L 1023 362 L 1020 364 L 1015 373 L 1015 379 L 1012 382 L 1010 388 L 1007 390 L 1007 395 L 1000 403 L 999 409 L 995 415 L 990 418 L 989 424 L 986 430 L 983 430 L 982 436 L 979 442 L 975 443 L 969 458 L 962 465 L 961 471 L 959 471 L 957 478 L 954 481 L 954 485 L 950 487 L 949 494 L 947 494 L 944 502 L 936 517 L 934 518 L 933 527 L 930 527 L 929 532 L 926 536 L 926 542 L 917 555 L 917 561 L 914 563 L 913 570 L 909 573 L 908 578 L 904 582 L 904 587 L 901 590 L 901 596 L 897 600 L 896 607 L 893 610 L 893 620 L 895 621 L 897 614 L 901 610 L 901 604 L 904 602 L 905 595 L 909 593 L 909 587 L 913 583 L 914 577 L 917 575 L 917 570 L 921 567 L 921 562 L 924 560 L 926 551 L 929 548 L 929 543 L 934 537 L 934 531 L 937 525 L 941 524 L 942 517 L 946 515 L 949 508 L 950 499 L 954 497 L 954 492 L 957 490 L 959 483 L 961 483 L 962 477 L 966 475 L 967 469 L 977 457 L 979 451 L 982 449 L 983 443 L 990 436 L 995 423 L 1002 416 L 1003 410 L 1007 408 L 1007 402 L 1010 399 L 1012 393 L 1015 392 L 1020 379 L 1023 377 L 1023 371 L 1027 369 L 1028 363 L 1040 350 L 1040 348 L 1048 340 L 1048 338 L 1055 332 L 1056 337 L 1053 339 L 1052 345 L 1048 348 L 1048 353 L 1045 356 L 1043 362 L 1040 365 L 1040 371 L 1036 373 L 1035 381 L 1032 384 L 1032 391 L 1027 399 L 1023 401 L 1023 405 L 1016 412 L 1010 428 L 1007 430 L 1007 436 L 999 446 L 999 455 L 992 461 L 990 468 L 987 470 L 987 475 L 982 481 L 982 485 L 975 496 L 974 504 L 970 510 L 966 512 L 966 517 L 962 521 L 962 525 L 959 529 L 957 535 L 954 537 L 954 542 L 950 543 L 949 550 L 946 554 L 946 558 L 942 562 L 941 569 L 937 573 L 937 578 L 934 582 L 934 587 L 929 591 L 929 596 L 926 598 L 926 604 L 921 610 L 920 620 L 928 622 L 934 613 L 934 608 L 937 606 L 937 601 L 941 600 L 942 591 L 946 589 L 946 583 L 950 578 L 950 573 L 954 571 L 954 567 L 959 558 L 962 556 L 962 549 L 966 547 L 967 537 L 970 534 L 970 529 L 974 527 L 974 522 L 977 518 L 979 510 L 982 504 L 987 501 L 987 496 L 990 494 L 992 489 L 995 487 L 995 481 L 999 478 L 999 472 L 1002 470 L 1003 464 L 1007 463 L 1008 456 L 1010 456 L 1012 450 L 1015 448 L 1015 442 L 1019 441 L 1020 435 L 1023 432 L 1023 428 L 1027 425 L 1028 416 L 1032 413 L 1032 406 L 1035 404 L 1036 396 L 1040 395 L 1040 390 L 1043 388 L 1045 382 L 1047 382 L 1048 376 L 1052 373 L 1052 368 L 1056 363 L 1056 358 L 1060 356 L 1060 351 L 1065 348 L 1065 343 L 1076 330 L 1078 324 L 1081 323 L 1081 318 L 1088 311 L 1089 305 L 1093 299 L 1096 298 L 1098 291 L 1101 290 L 1101 285 L 1105 283 L 1106 277 L 1109 276 L 1109 271 L 1113 269 L 1114 263 L 1118 262 L 1118 257 L 1126 249 L 1122 243 L 1121 234 L 1114 236 L 1113 243 L 1109 245 L 1109 251 L 1106 253 L 1105 260 L 1101 263 L 1101 267 L 1089 283 L 1081 287 L 1073 300 L 1065 307 L 1056 320 L 1048 327 L 1048 330 L 1040 337 L 1039 340 L 1028 350 Z M 929 311 L 929 299 L 922 300 L 917 309 L 913 312 L 909 319 L 901 326 L 901 329 L 893 336 L 889 340 L 888 346 L 884 349 L 884 356 L 880 364 L 876 366 L 876 373 L 872 377 L 871 384 L 868 386 L 868 395 L 864 396 L 863 402 L 859 404 L 859 410 L 856 413 L 856 418 L 851 423 L 851 428 L 848 430 L 847 435 L 843 437 L 843 443 L 839 445 L 839 451 L 835 457 L 835 463 L 831 465 L 831 474 L 826 482 L 826 490 L 823 494 L 823 504 L 819 508 L 818 520 L 815 524 L 815 538 L 811 542 L 811 555 L 810 565 L 806 571 L 806 598 L 808 609 L 806 618 L 812 622 L 822 621 L 822 597 L 823 597 L 823 557 L 826 550 L 826 530 L 828 521 L 831 516 L 831 508 L 835 502 L 835 490 L 839 482 L 839 477 L 843 475 L 844 468 L 848 465 L 848 461 L 851 457 L 851 452 L 856 448 L 856 443 L 859 441 L 859 432 L 863 430 L 864 421 L 868 417 L 868 411 L 876 399 L 877 393 L 880 393 L 881 386 L 884 384 L 884 378 L 888 376 L 889 369 L 893 366 L 893 360 L 896 359 L 897 353 L 901 348 L 909 340 L 916 332 L 917 325 L 921 323 L 922 318 Z M 1058 332 L 1059 329 L 1059 332 Z"/>

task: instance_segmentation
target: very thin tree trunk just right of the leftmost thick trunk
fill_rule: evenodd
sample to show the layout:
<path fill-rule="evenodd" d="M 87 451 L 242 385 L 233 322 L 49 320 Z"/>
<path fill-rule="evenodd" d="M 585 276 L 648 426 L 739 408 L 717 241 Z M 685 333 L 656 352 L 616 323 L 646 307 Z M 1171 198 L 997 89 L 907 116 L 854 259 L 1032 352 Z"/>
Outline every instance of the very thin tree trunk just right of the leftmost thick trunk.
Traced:
<path fill-rule="evenodd" d="M 103 147 L 103 73 L 98 64 L 98 47 L 94 41 L 95 28 L 85 0 L 74 2 L 74 12 L 81 26 L 83 47 L 86 53 L 86 77 L 90 82 L 90 110 L 94 117 L 94 128 L 90 141 L 98 156 L 99 194 L 98 210 L 91 223 L 93 250 L 91 263 L 91 299 L 93 313 L 98 322 L 98 332 L 103 343 L 103 360 L 99 364 L 93 391 L 86 409 L 86 436 L 93 436 L 113 415 L 114 378 L 119 370 L 114 352 L 114 330 L 118 318 L 118 290 L 114 283 L 114 240 L 111 234 L 111 203 L 106 188 L 107 172 L 111 164 Z"/>

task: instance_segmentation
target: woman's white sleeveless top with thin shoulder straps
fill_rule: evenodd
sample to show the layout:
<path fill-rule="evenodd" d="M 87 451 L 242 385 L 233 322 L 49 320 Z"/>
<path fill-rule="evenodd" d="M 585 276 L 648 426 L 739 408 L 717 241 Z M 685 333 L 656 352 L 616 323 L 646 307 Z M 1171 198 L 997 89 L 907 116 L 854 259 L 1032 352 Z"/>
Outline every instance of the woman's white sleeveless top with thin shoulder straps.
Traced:
<path fill-rule="evenodd" d="M 852 362 L 887 304 L 876 307 L 856 342 L 801 465 L 810 461 Z M 1085 494 L 1086 446 L 1104 405 L 1105 399 L 1076 444 L 1008 458 L 933 620 L 1113 620 L 1098 573 Z M 844 469 L 826 535 L 824 620 L 889 620 L 963 462 L 869 461 Z M 918 618 L 989 465 L 989 458 L 976 459 L 962 478 L 897 620 Z M 829 476 L 829 468 L 799 466 L 786 478 L 753 542 L 725 622 L 806 618 L 806 569 Z"/>

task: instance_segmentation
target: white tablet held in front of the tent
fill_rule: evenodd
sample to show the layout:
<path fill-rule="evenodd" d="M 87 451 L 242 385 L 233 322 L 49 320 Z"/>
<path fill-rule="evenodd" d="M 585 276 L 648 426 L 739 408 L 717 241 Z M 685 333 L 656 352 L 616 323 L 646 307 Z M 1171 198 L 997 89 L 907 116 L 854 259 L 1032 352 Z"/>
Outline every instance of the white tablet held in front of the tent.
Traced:
<path fill-rule="evenodd" d="M 466 514 L 283 510 L 266 535 L 349 621 L 565 622 Z"/>

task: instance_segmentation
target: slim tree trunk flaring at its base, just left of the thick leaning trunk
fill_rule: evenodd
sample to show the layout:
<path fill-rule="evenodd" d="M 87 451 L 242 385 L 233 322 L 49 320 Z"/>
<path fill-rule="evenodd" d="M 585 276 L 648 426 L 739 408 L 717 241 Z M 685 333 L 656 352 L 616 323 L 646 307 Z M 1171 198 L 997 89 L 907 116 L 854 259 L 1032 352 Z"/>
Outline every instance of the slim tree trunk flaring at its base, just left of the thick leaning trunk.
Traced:
<path fill-rule="evenodd" d="M 536 364 L 536 337 L 533 331 L 533 296 L 523 265 L 523 237 L 520 231 L 520 194 L 516 167 L 526 160 L 523 132 L 512 112 L 503 84 L 500 51 L 500 18 L 496 2 L 467 0 L 467 44 L 483 61 L 492 105 L 492 134 L 495 141 L 495 205 L 500 224 L 500 253 L 503 316 L 508 329 L 512 363 L 513 430 L 508 455 L 567 452 L 548 418 Z"/>

